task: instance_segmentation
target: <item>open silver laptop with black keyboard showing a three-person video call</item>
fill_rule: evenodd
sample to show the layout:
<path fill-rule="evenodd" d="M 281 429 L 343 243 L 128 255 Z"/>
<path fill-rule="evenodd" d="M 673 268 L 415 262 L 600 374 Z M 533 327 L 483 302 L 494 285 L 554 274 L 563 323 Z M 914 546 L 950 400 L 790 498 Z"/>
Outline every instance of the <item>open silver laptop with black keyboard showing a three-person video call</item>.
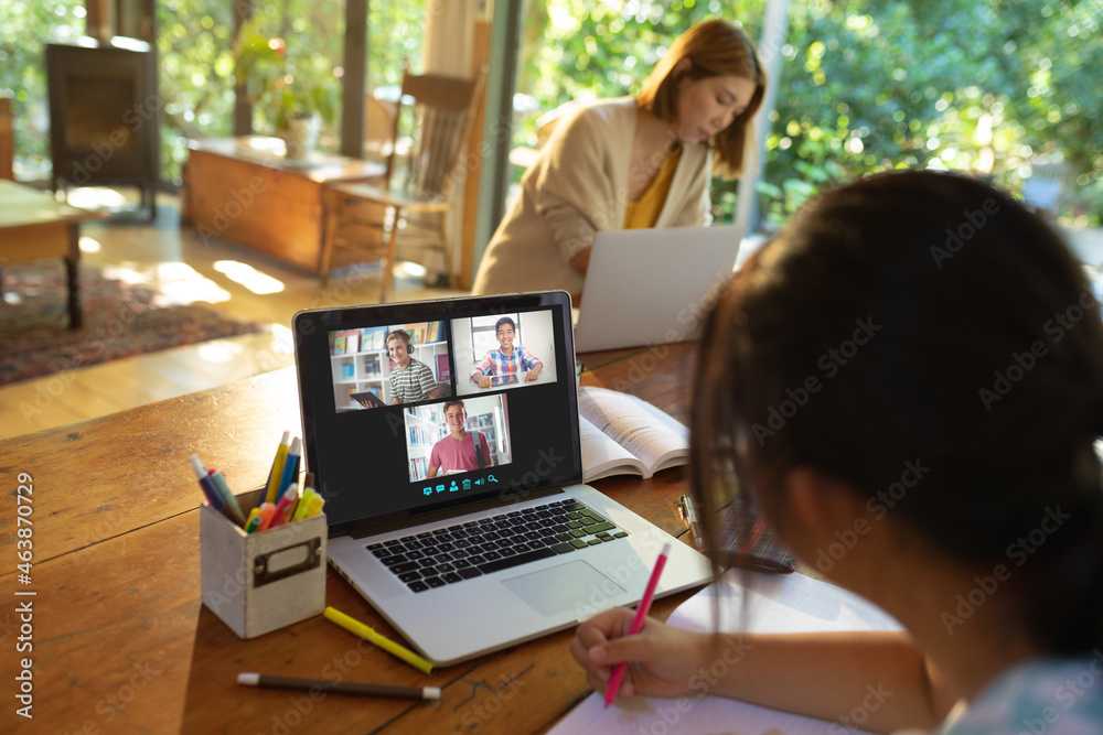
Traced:
<path fill-rule="evenodd" d="M 503 317 L 521 359 L 494 354 Z M 566 293 L 312 310 L 293 329 L 330 562 L 427 658 L 453 663 L 639 602 L 672 537 L 581 484 Z M 399 329 L 410 346 L 395 361 L 386 336 Z M 476 369 L 522 377 L 480 388 Z M 394 404 L 396 371 L 425 393 Z M 708 579 L 676 542 L 658 594 Z"/>

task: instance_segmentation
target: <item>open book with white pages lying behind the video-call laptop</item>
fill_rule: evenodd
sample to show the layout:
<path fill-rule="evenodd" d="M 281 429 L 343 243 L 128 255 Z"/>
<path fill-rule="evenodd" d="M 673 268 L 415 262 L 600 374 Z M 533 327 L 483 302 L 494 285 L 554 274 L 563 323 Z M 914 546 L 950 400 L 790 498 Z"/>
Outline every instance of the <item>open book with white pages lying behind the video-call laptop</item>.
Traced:
<path fill-rule="evenodd" d="M 645 400 L 606 388 L 578 389 L 582 479 L 651 477 L 689 461 L 689 430 Z"/>

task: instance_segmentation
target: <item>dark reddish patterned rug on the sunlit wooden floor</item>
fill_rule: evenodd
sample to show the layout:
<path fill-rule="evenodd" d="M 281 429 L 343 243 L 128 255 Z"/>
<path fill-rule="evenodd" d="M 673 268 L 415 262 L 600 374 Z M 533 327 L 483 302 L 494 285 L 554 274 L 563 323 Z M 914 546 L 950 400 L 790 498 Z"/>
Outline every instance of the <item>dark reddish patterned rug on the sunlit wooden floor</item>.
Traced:
<path fill-rule="evenodd" d="M 146 287 L 82 268 L 84 326 L 69 329 L 61 260 L 9 266 L 2 277 L 0 386 L 267 328 L 200 304 L 162 306 Z"/>

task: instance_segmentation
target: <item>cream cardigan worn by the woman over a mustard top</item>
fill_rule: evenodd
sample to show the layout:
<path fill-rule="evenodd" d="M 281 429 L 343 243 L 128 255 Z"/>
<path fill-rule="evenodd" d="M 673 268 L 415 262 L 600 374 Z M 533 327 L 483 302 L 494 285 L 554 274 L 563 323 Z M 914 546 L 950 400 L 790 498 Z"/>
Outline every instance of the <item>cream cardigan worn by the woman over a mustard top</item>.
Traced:
<path fill-rule="evenodd" d="M 560 120 L 491 239 L 472 293 L 563 289 L 577 301 L 583 277 L 567 262 L 602 229 L 621 229 L 628 201 L 635 99 L 604 100 Z M 655 227 L 690 227 L 710 217 L 711 155 L 682 151 Z"/>

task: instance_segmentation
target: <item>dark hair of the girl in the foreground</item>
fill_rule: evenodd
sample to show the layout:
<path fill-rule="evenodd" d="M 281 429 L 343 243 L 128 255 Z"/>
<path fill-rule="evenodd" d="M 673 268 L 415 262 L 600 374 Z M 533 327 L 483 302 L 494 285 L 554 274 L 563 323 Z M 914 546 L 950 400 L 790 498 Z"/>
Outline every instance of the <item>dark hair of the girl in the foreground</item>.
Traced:
<path fill-rule="evenodd" d="M 815 468 L 874 518 L 1003 565 L 1048 650 L 1103 645 L 1103 323 L 1018 202 L 927 171 L 824 194 L 736 274 L 700 349 L 707 508 L 738 474 L 783 528 L 782 477 Z"/>

